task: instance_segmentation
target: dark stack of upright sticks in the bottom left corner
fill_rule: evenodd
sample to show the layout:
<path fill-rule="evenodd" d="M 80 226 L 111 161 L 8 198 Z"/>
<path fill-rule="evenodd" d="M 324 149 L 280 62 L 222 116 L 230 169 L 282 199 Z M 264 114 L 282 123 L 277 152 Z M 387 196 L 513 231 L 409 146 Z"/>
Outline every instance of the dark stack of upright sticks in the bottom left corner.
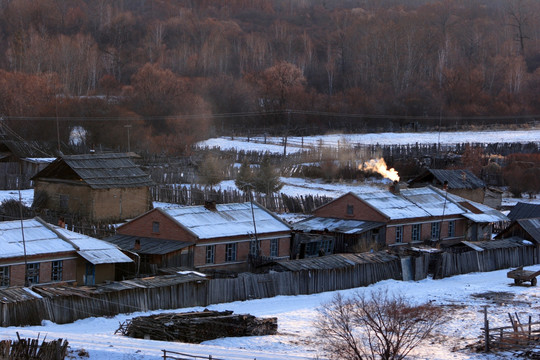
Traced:
<path fill-rule="evenodd" d="M 68 341 L 63 339 L 45 341 L 21 339 L 0 341 L 1 360 L 63 360 L 68 351 Z"/>

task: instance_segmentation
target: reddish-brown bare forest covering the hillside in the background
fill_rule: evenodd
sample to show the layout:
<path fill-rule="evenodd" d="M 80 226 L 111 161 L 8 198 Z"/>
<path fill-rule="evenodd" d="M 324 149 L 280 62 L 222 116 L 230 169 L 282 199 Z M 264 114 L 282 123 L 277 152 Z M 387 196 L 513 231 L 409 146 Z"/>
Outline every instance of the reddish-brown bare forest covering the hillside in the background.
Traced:
<path fill-rule="evenodd" d="M 540 114 L 537 0 L 0 0 L 25 139 L 186 153 L 213 135 Z"/>

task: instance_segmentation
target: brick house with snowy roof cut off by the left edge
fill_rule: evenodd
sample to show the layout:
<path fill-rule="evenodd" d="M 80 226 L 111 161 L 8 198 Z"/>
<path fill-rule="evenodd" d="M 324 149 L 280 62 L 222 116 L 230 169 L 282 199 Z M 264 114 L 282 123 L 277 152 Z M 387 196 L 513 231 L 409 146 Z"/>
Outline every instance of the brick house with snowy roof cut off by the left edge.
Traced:
<path fill-rule="evenodd" d="M 24 220 L 22 230 L 20 220 L 0 222 L 0 287 L 54 282 L 93 285 L 115 280 L 116 264 L 131 262 L 114 245 L 39 217 Z"/>

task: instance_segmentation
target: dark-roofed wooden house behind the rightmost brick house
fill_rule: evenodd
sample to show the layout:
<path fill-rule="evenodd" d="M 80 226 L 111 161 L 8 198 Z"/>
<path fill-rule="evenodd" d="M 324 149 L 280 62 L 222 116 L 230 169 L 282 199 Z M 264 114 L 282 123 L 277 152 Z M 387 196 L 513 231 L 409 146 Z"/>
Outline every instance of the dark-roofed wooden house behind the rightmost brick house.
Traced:
<path fill-rule="evenodd" d="M 434 186 L 442 189 L 446 186 L 449 193 L 462 198 L 484 204 L 486 200 L 493 208 L 500 208 L 502 193 L 489 190 L 486 199 L 486 184 L 470 170 L 426 169 L 423 173 L 409 181 L 409 187 Z"/>

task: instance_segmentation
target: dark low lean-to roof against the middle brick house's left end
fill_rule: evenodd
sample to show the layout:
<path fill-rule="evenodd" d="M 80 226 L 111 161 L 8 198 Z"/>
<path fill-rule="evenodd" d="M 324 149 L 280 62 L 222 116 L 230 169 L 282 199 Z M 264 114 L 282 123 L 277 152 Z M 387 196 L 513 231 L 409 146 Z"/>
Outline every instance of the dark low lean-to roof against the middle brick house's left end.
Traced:
<path fill-rule="evenodd" d="M 182 250 L 190 245 L 193 245 L 193 243 L 191 242 L 122 234 L 116 234 L 104 240 L 115 244 L 116 246 L 124 250 L 133 251 L 138 254 L 153 255 L 164 255 L 174 251 Z M 135 240 L 139 240 L 141 246 L 139 250 L 135 250 Z"/>

